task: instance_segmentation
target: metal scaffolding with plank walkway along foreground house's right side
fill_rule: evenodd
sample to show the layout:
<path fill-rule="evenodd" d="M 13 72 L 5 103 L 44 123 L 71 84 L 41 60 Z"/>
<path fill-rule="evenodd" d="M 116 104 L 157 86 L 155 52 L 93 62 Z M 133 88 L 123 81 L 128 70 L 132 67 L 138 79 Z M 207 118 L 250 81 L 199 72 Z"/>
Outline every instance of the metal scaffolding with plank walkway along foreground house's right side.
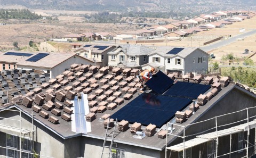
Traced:
<path fill-rule="evenodd" d="M 244 157 L 249 158 L 251 156 L 249 155 L 249 148 L 254 147 L 253 154 L 256 154 L 256 120 L 253 120 L 256 118 L 256 115 L 253 112 L 251 112 L 252 113 L 251 115 L 249 114 L 249 111 L 252 111 L 252 110 L 256 110 L 256 107 L 249 107 L 236 112 L 219 115 L 217 117 L 207 119 L 204 121 L 186 124 L 184 126 L 177 123 L 170 123 L 170 122 L 166 123 L 166 129 L 171 129 L 171 130 L 166 130 L 165 158 L 167 157 L 167 150 L 170 150 L 170 157 L 172 152 L 182 152 L 183 157 L 186 157 L 186 149 L 189 149 L 191 147 L 201 145 L 203 143 L 210 142 L 213 140 L 215 142 L 214 157 L 217 158 L 225 155 L 229 155 L 229 157 L 231 157 L 232 153 L 244 151 L 245 149 L 246 155 Z M 243 118 L 241 120 L 232 119 L 230 120 L 231 122 L 225 123 L 225 124 L 222 122 L 218 122 L 218 119 L 222 117 L 230 117 L 231 115 L 241 114 L 241 113 L 244 113 L 244 115 L 246 115 L 246 118 Z M 195 125 L 198 125 L 199 123 L 205 124 L 207 122 L 208 123 L 214 122 L 215 126 L 212 126 L 209 129 L 205 129 L 203 131 L 196 132 L 195 134 L 186 135 L 186 129 L 188 129 L 188 127 L 193 127 Z M 178 130 L 179 134 L 176 134 L 176 135 L 173 134 L 174 127 L 175 127 L 175 130 Z M 225 127 L 228 127 L 228 128 L 225 128 Z M 220 128 L 224 128 L 224 129 L 219 130 Z M 254 144 L 249 143 L 250 129 L 255 129 Z M 231 135 L 237 134 L 238 132 L 245 132 L 245 131 L 247 131 L 247 141 L 245 140 L 246 143 L 244 142 L 245 146 L 242 149 L 231 151 L 231 141 L 232 141 Z M 182 135 L 182 132 L 183 132 L 183 135 Z M 172 136 L 172 138 L 173 137 L 182 138 L 183 142 L 177 145 L 167 147 L 169 145 L 168 135 Z M 219 137 L 223 137 L 223 136 L 230 136 L 229 152 L 226 154 L 219 155 L 218 154 Z M 188 137 L 195 137 L 195 138 L 191 138 L 185 141 L 185 139 L 188 139 Z M 201 157 L 201 151 L 199 151 L 199 157 Z"/>

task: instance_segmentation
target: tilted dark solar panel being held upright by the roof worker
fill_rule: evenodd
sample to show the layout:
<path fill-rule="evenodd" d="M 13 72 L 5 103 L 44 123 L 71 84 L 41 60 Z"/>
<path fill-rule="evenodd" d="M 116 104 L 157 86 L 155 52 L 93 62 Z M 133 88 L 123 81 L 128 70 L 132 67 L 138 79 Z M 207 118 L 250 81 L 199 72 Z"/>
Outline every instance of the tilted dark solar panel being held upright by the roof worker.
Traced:
<path fill-rule="evenodd" d="M 146 85 L 158 94 L 163 94 L 172 84 L 173 80 L 162 71 L 158 71 L 146 82 Z"/>

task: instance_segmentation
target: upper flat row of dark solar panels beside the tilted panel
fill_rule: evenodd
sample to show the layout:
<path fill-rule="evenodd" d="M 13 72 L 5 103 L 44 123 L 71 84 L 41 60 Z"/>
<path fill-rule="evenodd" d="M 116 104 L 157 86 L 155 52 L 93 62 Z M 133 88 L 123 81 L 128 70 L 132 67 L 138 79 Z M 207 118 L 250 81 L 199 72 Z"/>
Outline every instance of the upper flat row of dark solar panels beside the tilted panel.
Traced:
<path fill-rule="evenodd" d="M 176 84 L 172 85 L 172 87 L 168 89 L 164 95 L 197 98 L 200 94 L 204 94 L 210 88 L 210 85 L 177 82 Z"/>

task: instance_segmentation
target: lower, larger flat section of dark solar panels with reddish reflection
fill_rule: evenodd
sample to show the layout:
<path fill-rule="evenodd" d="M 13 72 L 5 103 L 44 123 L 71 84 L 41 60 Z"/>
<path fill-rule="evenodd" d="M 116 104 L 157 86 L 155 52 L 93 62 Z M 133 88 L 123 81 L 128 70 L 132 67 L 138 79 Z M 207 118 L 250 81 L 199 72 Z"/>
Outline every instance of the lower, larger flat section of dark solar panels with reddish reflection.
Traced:
<path fill-rule="evenodd" d="M 110 118 L 118 121 L 127 120 L 130 123 L 139 122 L 144 126 L 151 123 L 160 128 L 174 118 L 177 111 L 187 107 L 191 101 L 192 99 L 189 98 L 143 93 Z"/>

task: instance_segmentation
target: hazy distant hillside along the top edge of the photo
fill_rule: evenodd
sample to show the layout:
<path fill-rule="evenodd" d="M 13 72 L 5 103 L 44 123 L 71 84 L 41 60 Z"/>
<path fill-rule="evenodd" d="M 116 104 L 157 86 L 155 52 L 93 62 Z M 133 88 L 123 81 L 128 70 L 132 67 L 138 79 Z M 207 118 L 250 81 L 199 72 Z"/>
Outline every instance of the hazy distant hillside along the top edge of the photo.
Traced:
<path fill-rule="evenodd" d="M 255 0 L 0 0 L 2 6 L 19 5 L 29 9 L 52 10 L 87 10 L 87 11 L 168 11 L 183 9 L 183 11 L 207 10 L 255 10 Z M 210 6 L 210 7 L 209 7 Z"/>

